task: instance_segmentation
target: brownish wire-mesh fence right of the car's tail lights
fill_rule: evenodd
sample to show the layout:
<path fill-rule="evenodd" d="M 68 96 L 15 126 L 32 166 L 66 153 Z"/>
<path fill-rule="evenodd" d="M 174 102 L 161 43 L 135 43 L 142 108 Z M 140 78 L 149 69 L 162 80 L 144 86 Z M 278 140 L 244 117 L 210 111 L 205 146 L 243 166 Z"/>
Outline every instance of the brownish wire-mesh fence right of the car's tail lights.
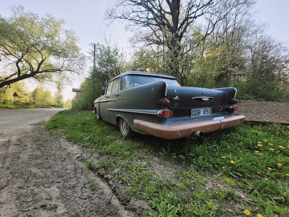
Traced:
<path fill-rule="evenodd" d="M 245 115 L 246 121 L 272 122 L 289 125 L 289 100 L 280 102 L 242 100 L 235 114 Z"/>

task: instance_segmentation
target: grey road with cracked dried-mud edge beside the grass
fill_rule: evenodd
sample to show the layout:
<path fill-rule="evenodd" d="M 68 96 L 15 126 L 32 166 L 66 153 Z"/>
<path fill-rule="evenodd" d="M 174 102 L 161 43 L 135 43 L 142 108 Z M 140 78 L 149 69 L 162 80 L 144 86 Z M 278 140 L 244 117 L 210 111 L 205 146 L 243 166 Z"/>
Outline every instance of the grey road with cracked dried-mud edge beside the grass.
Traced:
<path fill-rule="evenodd" d="M 0 216 L 134 216 L 79 147 L 45 130 L 60 110 L 0 109 Z"/>

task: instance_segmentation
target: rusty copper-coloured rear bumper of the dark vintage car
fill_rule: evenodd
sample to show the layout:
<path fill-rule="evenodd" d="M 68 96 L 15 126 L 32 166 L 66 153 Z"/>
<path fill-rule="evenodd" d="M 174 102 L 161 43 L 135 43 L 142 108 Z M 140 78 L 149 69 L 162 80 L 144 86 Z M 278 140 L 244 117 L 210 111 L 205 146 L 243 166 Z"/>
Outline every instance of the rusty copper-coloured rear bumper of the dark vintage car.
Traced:
<path fill-rule="evenodd" d="M 156 137 L 160 137 L 163 139 L 178 139 L 188 137 L 194 131 L 209 133 L 212 131 L 222 130 L 228 127 L 236 126 L 238 124 L 242 124 L 244 120 L 244 115 L 234 115 L 218 121 L 208 120 L 166 126 L 134 119 L 134 126 L 136 129 Z"/>

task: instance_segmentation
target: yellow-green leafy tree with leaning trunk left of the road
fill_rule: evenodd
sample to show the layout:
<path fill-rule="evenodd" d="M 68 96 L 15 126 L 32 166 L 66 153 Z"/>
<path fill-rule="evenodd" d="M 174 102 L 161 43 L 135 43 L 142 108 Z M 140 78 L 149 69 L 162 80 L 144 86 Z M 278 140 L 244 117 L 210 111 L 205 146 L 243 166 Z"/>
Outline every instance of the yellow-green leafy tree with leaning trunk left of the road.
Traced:
<path fill-rule="evenodd" d="M 25 12 L 22 6 L 12 7 L 9 18 L 0 15 L 0 88 L 27 78 L 68 79 L 67 73 L 79 72 L 84 60 L 79 38 L 64 24 L 51 14 Z"/>

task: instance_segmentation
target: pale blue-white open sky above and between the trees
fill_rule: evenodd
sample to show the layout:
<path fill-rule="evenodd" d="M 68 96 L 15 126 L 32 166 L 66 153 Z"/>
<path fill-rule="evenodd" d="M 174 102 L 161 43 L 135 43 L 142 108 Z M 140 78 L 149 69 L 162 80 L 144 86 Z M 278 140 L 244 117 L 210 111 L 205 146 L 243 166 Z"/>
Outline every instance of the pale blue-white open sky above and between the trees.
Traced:
<path fill-rule="evenodd" d="M 73 29 L 80 38 L 82 51 L 87 54 L 91 47 L 90 43 L 102 41 L 104 36 L 111 38 L 112 43 L 129 51 L 128 37 L 130 32 L 124 30 L 124 24 L 115 21 L 112 25 L 106 26 L 104 14 L 107 8 L 113 5 L 116 0 L 0 0 L 1 16 L 10 17 L 12 5 L 22 5 L 25 10 L 36 14 L 53 14 L 57 18 L 66 21 L 66 29 Z M 255 8 L 256 21 L 269 25 L 268 35 L 278 41 L 289 41 L 289 0 L 257 0 Z M 83 80 L 77 79 L 73 84 L 67 86 L 63 91 L 64 99 L 73 98 L 72 88 L 79 88 Z M 35 88 L 35 87 L 34 87 Z M 53 92 L 53 91 L 52 91 Z"/>

